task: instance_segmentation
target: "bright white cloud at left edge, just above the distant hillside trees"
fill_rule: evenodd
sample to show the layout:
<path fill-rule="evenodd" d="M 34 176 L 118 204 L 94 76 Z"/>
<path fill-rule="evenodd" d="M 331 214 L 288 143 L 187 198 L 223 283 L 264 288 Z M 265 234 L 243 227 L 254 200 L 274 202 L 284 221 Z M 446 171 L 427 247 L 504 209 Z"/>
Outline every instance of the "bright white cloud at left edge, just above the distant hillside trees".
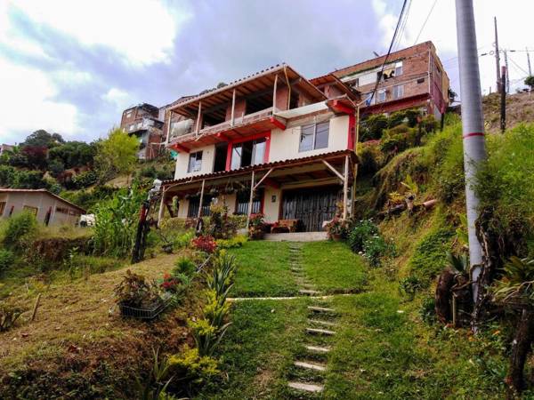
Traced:
<path fill-rule="evenodd" d="M 28 134 L 36 129 L 67 134 L 77 127 L 77 108 L 68 103 L 53 100 L 56 88 L 44 73 L 23 68 L 0 58 L 0 141 L 23 141 L 17 131 Z M 7 94 L 5 94 L 7 93 Z"/>

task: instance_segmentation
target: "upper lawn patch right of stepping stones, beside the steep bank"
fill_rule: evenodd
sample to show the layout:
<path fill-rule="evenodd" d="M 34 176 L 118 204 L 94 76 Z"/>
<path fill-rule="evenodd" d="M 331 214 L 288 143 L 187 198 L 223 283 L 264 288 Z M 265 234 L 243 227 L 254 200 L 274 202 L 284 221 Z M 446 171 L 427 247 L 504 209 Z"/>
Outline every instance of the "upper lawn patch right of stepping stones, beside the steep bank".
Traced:
<path fill-rule="evenodd" d="M 327 293 L 360 292 L 368 268 L 360 256 L 343 243 L 303 244 L 303 268 L 310 281 Z"/>

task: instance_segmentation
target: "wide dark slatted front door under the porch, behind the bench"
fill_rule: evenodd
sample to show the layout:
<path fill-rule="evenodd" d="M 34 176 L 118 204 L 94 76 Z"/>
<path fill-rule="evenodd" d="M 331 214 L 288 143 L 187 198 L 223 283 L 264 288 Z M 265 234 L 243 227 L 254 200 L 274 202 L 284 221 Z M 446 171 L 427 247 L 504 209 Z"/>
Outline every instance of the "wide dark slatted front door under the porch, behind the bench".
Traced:
<path fill-rule="evenodd" d="M 282 220 L 301 220 L 306 232 L 319 232 L 325 220 L 336 214 L 336 202 L 340 188 L 308 188 L 284 191 L 282 195 Z"/>

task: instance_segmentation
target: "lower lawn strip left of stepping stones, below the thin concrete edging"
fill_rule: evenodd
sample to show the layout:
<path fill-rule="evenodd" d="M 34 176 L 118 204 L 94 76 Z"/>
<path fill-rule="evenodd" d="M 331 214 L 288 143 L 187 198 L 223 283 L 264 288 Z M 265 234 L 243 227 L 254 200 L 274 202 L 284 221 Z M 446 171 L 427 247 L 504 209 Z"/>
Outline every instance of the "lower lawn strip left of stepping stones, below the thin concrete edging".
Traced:
<path fill-rule="evenodd" d="M 211 382 L 201 399 L 289 398 L 285 373 L 303 346 L 308 299 L 234 303 L 232 324 L 215 356 L 222 381 Z"/>

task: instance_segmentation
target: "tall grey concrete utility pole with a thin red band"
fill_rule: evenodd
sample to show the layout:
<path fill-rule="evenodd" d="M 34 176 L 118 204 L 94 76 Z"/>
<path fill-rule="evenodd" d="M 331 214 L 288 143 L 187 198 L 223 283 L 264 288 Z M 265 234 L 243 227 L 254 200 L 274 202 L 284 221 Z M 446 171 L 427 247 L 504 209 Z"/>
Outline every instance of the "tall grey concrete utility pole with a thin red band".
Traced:
<path fill-rule="evenodd" d="M 478 218 L 479 199 L 474 193 L 472 185 L 478 164 L 486 158 L 486 148 L 473 0 L 456 0 L 456 12 L 464 140 L 465 203 L 467 205 L 469 262 L 473 281 L 473 300 L 476 307 L 479 277 L 481 276 L 482 248 L 474 226 L 474 222 Z"/>

